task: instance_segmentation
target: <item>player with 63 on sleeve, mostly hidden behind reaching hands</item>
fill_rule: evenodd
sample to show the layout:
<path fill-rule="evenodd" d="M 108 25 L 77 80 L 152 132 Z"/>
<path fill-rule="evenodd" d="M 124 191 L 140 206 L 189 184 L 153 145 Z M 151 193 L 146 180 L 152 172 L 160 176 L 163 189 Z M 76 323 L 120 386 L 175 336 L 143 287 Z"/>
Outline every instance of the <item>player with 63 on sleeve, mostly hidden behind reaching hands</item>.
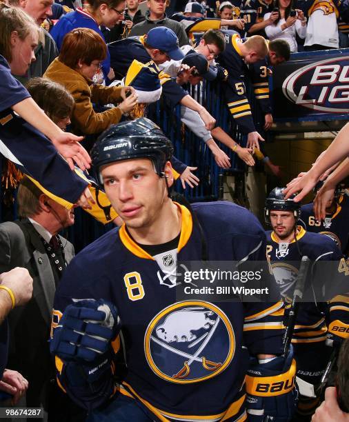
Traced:
<path fill-rule="evenodd" d="M 315 193 L 321 188 L 323 182 L 320 181 L 315 186 Z M 343 254 L 348 253 L 349 237 L 349 199 L 346 194 L 341 193 L 341 188 L 337 186 L 335 197 L 328 201 L 326 205 L 326 217 L 318 221 L 315 218 L 314 203 L 307 203 L 301 206 L 301 219 L 299 224 L 307 232 L 326 234 L 331 237 Z"/>

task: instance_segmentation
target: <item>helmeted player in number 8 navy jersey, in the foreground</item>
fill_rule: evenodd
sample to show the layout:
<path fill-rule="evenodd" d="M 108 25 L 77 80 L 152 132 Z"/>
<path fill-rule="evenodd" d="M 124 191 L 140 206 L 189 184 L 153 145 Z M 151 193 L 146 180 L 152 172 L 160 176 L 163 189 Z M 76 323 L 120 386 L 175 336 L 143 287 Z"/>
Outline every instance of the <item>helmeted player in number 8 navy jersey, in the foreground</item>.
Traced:
<path fill-rule="evenodd" d="M 94 147 L 94 168 L 125 223 L 83 250 L 59 285 L 51 342 L 59 383 L 89 421 L 242 421 L 246 405 L 255 421 L 289 420 L 295 365 L 292 352 L 280 356 L 282 301 L 176 299 L 177 261 L 265 267 L 266 243 L 255 217 L 235 204 L 190 211 L 173 202 L 171 154 L 148 119 L 112 126 Z M 116 386 L 121 343 L 128 370 Z M 265 377 L 284 388 L 259 392 Z"/>

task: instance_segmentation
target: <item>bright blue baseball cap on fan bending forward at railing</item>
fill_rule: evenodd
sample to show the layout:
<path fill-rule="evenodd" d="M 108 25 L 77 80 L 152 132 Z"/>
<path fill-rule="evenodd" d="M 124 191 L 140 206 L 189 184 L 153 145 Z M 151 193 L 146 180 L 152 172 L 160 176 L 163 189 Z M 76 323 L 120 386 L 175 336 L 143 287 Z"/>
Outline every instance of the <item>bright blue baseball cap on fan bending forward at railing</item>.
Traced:
<path fill-rule="evenodd" d="M 146 43 L 166 52 L 170 59 L 181 60 L 184 57 L 183 52 L 179 48 L 177 35 L 165 26 L 152 28 L 147 34 Z"/>

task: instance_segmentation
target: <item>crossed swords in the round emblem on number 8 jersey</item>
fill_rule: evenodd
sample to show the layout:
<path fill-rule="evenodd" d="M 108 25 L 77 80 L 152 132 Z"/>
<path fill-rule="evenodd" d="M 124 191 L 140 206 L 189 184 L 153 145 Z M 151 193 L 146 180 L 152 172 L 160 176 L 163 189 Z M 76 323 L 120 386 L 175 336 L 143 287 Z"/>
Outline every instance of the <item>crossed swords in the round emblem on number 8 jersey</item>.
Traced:
<path fill-rule="evenodd" d="M 183 356 L 184 358 L 189 359 L 188 361 L 184 361 L 183 368 L 181 368 L 181 370 L 179 370 L 179 372 L 177 372 L 177 374 L 172 375 L 172 378 L 174 378 L 174 379 L 185 379 L 185 378 L 187 378 L 188 375 L 190 374 L 190 365 L 195 361 L 201 362 L 202 365 L 203 365 L 203 368 L 205 368 L 208 371 L 213 372 L 213 371 L 217 371 L 218 368 L 221 368 L 221 365 L 222 365 L 221 362 L 216 363 L 216 362 L 213 362 L 213 361 L 209 361 L 208 359 L 206 359 L 205 356 L 199 357 L 199 354 L 201 354 L 201 352 L 204 350 L 204 348 L 206 348 L 206 345 L 208 345 L 208 342 L 212 338 L 212 335 L 214 334 L 214 332 L 215 332 L 215 330 L 216 330 L 216 328 L 219 324 L 219 321 L 220 321 L 220 318 L 219 318 L 219 316 L 217 316 L 215 324 L 212 325 L 210 332 L 206 332 L 201 337 L 199 337 L 199 339 L 193 341 L 192 343 L 190 343 L 190 345 L 188 345 L 188 348 L 192 348 L 193 346 L 200 343 L 201 340 L 203 340 L 202 344 L 197 349 L 195 354 L 189 354 L 189 353 L 186 353 L 186 352 L 182 352 L 181 350 L 178 350 L 176 348 L 172 348 L 170 345 L 163 343 L 163 341 L 160 341 L 159 339 L 157 339 L 154 336 L 150 337 L 152 339 L 152 341 L 161 345 L 161 347 L 165 348 L 166 350 L 170 350 L 170 352 L 173 352 L 175 354 L 179 354 L 179 356 Z"/>

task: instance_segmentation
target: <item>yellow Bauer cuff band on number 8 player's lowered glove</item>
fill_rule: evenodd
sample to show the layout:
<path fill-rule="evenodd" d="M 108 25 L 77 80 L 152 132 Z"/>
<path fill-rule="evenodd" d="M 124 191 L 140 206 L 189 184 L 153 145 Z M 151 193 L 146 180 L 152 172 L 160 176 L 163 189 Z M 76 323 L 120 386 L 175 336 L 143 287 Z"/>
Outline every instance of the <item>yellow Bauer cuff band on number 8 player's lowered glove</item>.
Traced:
<path fill-rule="evenodd" d="M 261 374 L 260 371 L 258 372 Z M 253 374 L 253 370 L 248 370 L 248 373 Z M 246 392 L 248 394 L 261 397 L 286 394 L 295 387 L 296 361 L 292 359 L 290 369 L 282 374 L 270 376 L 260 376 L 259 374 L 256 374 L 257 376 L 246 375 Z"/>

